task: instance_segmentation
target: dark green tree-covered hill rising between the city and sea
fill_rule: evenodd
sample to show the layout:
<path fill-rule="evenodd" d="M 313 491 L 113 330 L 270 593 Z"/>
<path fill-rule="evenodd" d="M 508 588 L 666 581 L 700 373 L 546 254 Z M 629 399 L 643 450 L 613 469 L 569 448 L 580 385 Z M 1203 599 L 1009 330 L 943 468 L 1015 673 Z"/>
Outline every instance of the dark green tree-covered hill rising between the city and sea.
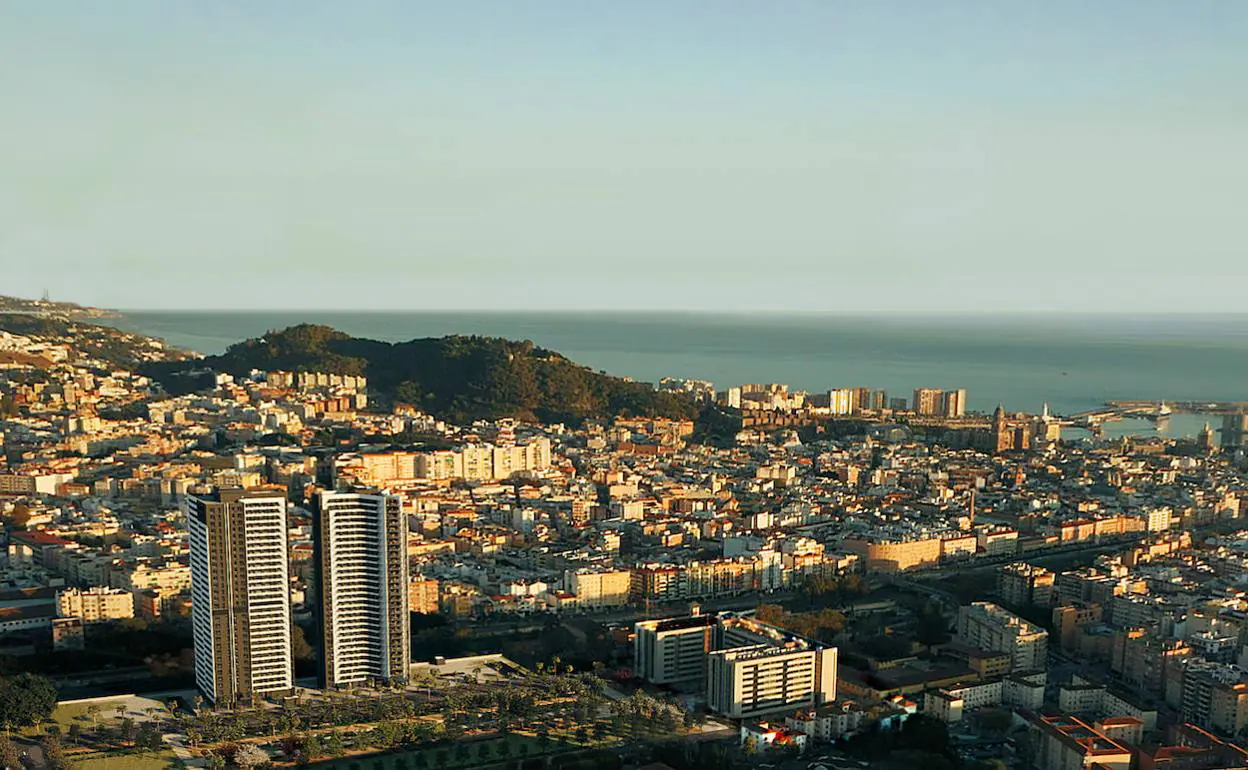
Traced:
<path fill-rule="evenodd" d="M 590 371 L 532 342 L 497 337 L 388 343 L 301 324 L 240 342 L 197 364 L 236 376 L 252 369 L 364 374 L 376 393 L 456 422 L 698 416 L 690 398 Z"/>

